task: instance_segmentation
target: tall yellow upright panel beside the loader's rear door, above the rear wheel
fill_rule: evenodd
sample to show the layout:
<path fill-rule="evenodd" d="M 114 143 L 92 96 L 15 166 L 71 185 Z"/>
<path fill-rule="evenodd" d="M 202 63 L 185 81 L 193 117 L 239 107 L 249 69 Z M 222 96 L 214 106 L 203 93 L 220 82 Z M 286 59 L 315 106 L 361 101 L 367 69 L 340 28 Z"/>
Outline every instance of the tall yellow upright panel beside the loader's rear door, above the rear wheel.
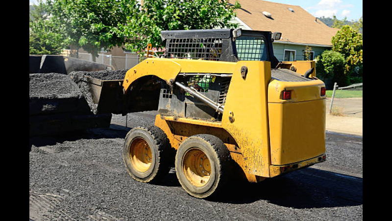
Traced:
<path fill-rule="evenodd" d="M 241 76 L 243 66 L 247 67 L 245 79 Z M 270 79 L 269 61 L 237 62 L 222 115 L 223 128 L 236 139 L 241 148 L 245 172 L 263 177 L 270 177 L 267 110 Z"/>

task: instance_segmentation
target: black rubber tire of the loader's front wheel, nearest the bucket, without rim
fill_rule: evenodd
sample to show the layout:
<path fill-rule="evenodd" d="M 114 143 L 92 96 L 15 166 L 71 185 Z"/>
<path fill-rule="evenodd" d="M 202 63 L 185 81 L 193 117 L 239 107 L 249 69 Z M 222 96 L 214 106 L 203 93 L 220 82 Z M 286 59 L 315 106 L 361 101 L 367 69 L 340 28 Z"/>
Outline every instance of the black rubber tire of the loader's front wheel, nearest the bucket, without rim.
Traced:
<path fill-rule="evenodd" d="M 131 163 L 130 146 L 136 138 L 143 138 L 151 150 L 151 166 L 145 172 L 138 171 Z M 173 158 L 171 145 L 165 132 L 157 126 L 140 126 L 132 128 L 123 144 L 123 162 L 129 175 L 140 182 L 154 183 L 166 176 L 171 168 Z"/>

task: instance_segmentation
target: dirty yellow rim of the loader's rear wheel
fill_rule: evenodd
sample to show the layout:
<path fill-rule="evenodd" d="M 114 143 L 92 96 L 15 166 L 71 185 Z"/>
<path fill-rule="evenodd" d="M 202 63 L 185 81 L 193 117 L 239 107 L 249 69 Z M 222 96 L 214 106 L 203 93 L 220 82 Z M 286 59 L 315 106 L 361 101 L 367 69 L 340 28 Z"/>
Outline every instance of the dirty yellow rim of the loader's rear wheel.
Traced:
<path fill-rule="evenodd" d="M 211 177 L 210 160 L 200 149 L 187 151 L 183 158 L 183 170 L 187 180 L 195 187 L 206 185 Z"/>

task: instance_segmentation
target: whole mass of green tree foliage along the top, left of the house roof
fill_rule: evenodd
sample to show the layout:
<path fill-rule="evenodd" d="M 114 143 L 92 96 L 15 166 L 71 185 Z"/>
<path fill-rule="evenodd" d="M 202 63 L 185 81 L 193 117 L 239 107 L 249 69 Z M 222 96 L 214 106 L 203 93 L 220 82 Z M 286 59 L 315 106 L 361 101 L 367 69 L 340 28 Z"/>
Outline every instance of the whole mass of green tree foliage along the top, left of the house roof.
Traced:
<path fill-rule="evenodd" d="M 101 48 L 123 46 L 142 52 L 148 43 L 162 48 L 161 30 L 228 27 L 240 8 L 227 0 L 46 0 L 48 21 L 63 42 L 98 56 Z M 57 35 L 56 35 L 57 37 Z M 30 44 L 36 38 L 31 38 Z"/>

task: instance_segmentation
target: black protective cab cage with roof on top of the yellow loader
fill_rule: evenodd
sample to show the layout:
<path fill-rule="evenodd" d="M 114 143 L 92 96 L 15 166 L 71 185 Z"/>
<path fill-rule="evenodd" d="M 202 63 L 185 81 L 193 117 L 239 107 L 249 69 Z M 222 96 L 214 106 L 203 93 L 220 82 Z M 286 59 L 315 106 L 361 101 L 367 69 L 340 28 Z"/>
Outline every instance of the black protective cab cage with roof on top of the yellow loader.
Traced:
<path fill-rule="evenodd" d="M 234 33 L 235 32 L 235 33 Z M 233 34 L 234 33 L 234 34 Z M 236 36 L 236 37 L 235 37 Z M 275 67 L 279 61 L 273 55 L 272 33 L 242 29 L 208 29 L 208 30 L 165 30 L 161 31 L 162 40 L 166 40 L 165 58 L 203 59 L 237 62 L 239 60 L 265 60 Z M 237 40 L 248 38 L 239 45 Z M 255 39 L 263 41 L 263 56 L 239 56 L 238 47 L 255 52 L 252 45 Z M 249 40 L 250 39 L 250 40 Z M 258 42 L 259 45 L 261 41 Z M 249 48 L 251 47 L 251 48 Z M 260 49 L 259 49 L 260 50 Z M 246 52 L 247 53 L 247 52 Z"/>

